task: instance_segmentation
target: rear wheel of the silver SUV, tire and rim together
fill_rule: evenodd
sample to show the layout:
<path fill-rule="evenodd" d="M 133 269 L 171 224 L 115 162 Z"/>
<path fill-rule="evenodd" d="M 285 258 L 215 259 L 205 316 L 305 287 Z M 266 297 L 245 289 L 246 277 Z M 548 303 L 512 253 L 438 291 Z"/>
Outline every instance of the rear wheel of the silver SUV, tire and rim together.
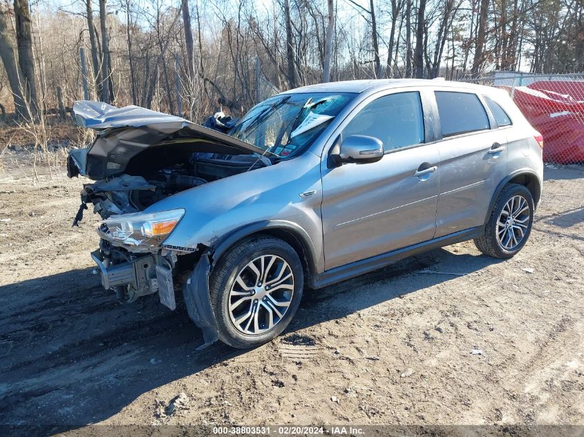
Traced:
<path fill-rule="evenodd" d="M 511 258 L 525 246 L 534 222 L 534 199 L 525 186 L 503 187 L 482 237 L 475 238 L 477 249 L 493 258 Z"/>

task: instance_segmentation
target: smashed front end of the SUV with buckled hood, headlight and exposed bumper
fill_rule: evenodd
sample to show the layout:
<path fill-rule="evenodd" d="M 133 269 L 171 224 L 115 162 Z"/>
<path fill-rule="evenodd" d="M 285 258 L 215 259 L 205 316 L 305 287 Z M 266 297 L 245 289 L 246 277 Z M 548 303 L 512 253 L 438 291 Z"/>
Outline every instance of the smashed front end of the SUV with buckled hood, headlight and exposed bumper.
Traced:
<path fill-rule="evenodd" d="M 175 291 L 182 288 L 205 345 L 214 342 L 210 255 L 205 247 L 164 246 L 185 209 L 156 211 L 156 203 L 271 165 L 271 154 L 218 130 L 136 106 L 118 109 L 80 101 L 73 111 L 80 126 L 97 130 L 90 147 L 71 151 L 67 168 L 69 177 L 94 181 L 84 184 L 73 226 L 90 207 L 102 219 L 97 226 L 100 248 L 91 257 L 103 287 L 124 303 L 158 293 L 171 310 L 176 309 Z"/>

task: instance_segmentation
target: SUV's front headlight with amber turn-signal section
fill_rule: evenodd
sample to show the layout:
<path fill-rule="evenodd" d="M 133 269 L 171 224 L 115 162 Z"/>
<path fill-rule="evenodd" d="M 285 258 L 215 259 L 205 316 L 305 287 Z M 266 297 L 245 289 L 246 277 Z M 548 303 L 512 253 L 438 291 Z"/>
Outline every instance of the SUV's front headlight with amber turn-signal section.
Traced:
<path fill-rule="evenodd" d="M 172 232 L 185 210 L 113 215 L 97 227 L 102 238 L 117 245 L 153 249 Z"/>

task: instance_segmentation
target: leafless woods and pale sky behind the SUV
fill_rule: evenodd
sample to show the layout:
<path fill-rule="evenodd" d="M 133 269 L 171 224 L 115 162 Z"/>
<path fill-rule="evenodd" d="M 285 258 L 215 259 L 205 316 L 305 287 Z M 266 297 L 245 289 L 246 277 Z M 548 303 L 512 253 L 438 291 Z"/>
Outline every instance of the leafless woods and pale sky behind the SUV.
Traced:
<path fill-rule="evenodd" d="M 583 0 L 0 0 L 0 104 L 235 115 L 321 81 L 584 70 Z M 62 105 L 59 104 L 62 102 Z"/>

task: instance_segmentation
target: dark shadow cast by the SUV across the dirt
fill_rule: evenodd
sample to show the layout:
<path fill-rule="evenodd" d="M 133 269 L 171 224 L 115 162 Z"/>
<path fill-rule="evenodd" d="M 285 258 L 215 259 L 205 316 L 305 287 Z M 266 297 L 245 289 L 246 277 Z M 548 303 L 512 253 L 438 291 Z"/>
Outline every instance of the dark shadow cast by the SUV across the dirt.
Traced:
<path fill-rule="evenodd" d="M 466 274 L 493 262 L 439 249 L 306 291 L 283 335 L 453 278 L 420 270 Z M 392 278 L 403 275 L 411 280 L 393 287 Z M 336 307 L 344 293 L 355 296 Z M 220 343 L 196 351 L 202 336 L 184 307 L 169 311 L 156 295 L 119 304 L 90 269 L 0 287 L 0 302 L 1 424 L 96 423 L 147 391 L 246 353 Z"/>

